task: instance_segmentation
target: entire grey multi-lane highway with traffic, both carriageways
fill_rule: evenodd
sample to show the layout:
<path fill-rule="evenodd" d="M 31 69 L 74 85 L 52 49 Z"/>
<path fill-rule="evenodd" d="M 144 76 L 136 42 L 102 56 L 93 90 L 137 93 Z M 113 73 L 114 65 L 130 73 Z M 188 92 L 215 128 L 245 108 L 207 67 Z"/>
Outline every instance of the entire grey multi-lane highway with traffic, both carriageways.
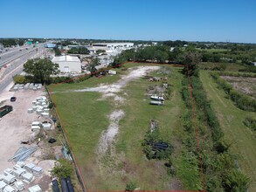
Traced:
<path fill-rule="evenodd" d="M 13 76 L 23 72 L 24 63 L 30 58 L 39 58 L 41 51 L 43 51 L 43 45 L 26 48 L 27 46 L 13 48 L 9 52 L 0 54 L 0 94 L 10 85 Z M 19 51 L 20 49 L 22 51 Z"/>

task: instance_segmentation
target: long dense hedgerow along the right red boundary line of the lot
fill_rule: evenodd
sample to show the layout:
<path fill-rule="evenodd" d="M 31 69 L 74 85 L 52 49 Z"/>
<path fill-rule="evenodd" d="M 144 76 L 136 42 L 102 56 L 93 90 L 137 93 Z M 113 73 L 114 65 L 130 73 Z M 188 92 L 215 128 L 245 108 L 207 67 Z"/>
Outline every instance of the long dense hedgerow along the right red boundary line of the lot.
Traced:
<path fill-rule="evenodd" d="M 188 90 L 189 81 L 186 75 L 183 78 L 183 100 L 188 109 L 187 113 L 184 114 L 183 125 L 190 135 L 185 145 L 190 153 L 199 158 L 194 133 L 197 132 L 199 138 L 204 138 L 204 140 L 200 139 L 200 148 L 207 191 L 246 191 L 249 186 L 249 180 L 246 175 L 239 172 L 235 165 L 229 150 L 230 145 L 224 141 L 223 131 L 199 79 L 197 66 L 195 66 L 197 64 L 192 65 L 193 60 L 193 56 L 189 57 L 186 60 L 186 65 L 188 65 L 190 71 L 190 85 L 195 109 L 192 109 L 191 105 L 190 92 Z M 184 69 L 185 71 L 186 68 Z M 197 113 L 197 127 L 193 125 L 193 111 Z M 197 163 L 198 168 L 201 167 L 198 161 Z"/>

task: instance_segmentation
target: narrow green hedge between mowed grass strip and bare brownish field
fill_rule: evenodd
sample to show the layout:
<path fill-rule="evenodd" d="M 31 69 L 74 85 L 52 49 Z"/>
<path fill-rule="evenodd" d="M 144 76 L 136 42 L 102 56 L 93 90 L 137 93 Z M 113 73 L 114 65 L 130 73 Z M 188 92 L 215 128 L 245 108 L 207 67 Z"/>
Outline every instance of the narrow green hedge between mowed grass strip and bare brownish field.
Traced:
<path fill-rule="evenodd" d="M 234 102 L 236 106 L 238 106 L 242 110 L 246 110 L 249 112 L 256 112 L 256 100 L 247 96 L 244 93 L 240 93 L 239 91 L 232 88 L 232 85 L 227 83 L 225 79 L 221 79 L 218 73 L 211 73 L 211 77 L 215 79 L 218 86 L 224 89 L 225 93 L 229 95 L 230 99 Z"/>

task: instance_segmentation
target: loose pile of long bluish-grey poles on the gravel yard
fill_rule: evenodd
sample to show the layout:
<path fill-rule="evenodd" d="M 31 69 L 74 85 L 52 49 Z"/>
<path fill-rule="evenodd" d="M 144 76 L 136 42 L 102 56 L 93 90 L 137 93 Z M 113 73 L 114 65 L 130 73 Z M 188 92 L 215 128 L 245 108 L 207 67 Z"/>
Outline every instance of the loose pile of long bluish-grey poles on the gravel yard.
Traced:
<path fill-rule="evenodd" d="M 38 147 L 19 147 L 17 152 L 14 154 L 13 157 L 9 159 L 9 161 L 25 161 L 27 158 L 30 157 L 31 154 L 33 154 L 36 150 L 38 150 Z"/>

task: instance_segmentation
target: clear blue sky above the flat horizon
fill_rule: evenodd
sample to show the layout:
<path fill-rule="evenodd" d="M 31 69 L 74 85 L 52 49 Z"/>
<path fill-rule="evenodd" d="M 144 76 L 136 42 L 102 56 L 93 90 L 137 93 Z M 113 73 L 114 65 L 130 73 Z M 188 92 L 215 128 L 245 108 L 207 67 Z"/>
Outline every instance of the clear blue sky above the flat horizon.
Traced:
<path fill-rule="evenodd" d="M 256 0 L 0 0 L 0 38 L 256 43 Z"/>

